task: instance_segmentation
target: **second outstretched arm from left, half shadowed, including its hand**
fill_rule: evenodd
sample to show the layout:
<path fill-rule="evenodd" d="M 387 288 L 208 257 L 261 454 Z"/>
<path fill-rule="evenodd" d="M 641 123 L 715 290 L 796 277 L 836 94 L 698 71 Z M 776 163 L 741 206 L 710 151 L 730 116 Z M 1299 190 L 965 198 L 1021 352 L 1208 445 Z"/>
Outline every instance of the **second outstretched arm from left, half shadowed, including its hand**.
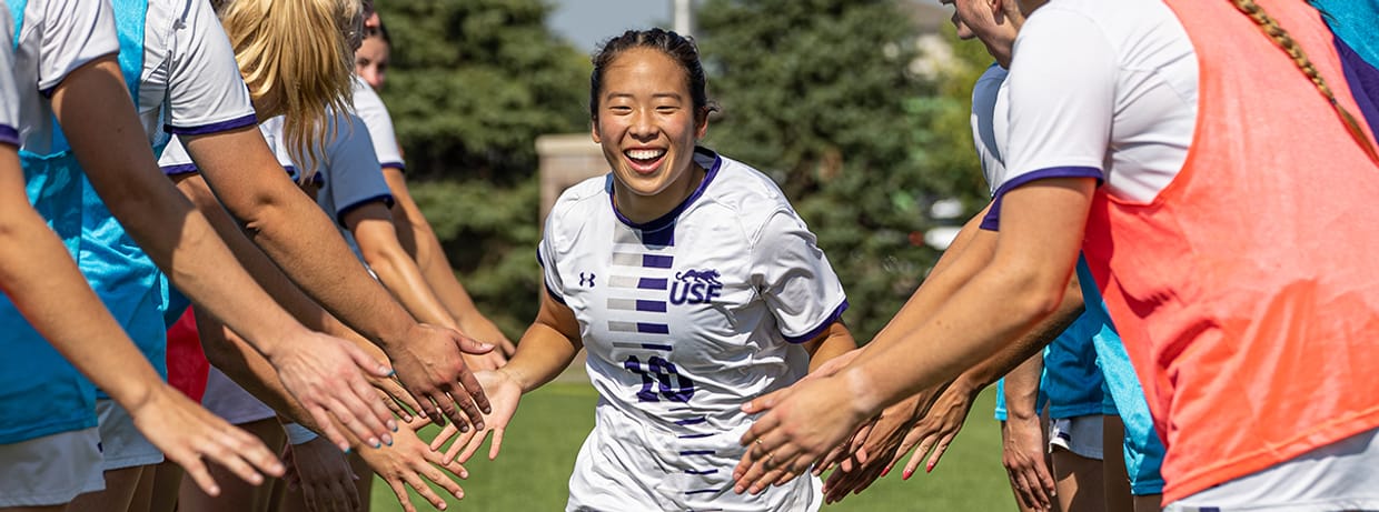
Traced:
<path fill-rule="evenodd" d="M 383 376 L 386 365 L 308 330 L 254 284 L 159 172 L 113 55 L 69 73 L 52 109 L 91 186 L 178 289 L 252 340 L 316 413 L 350 418 L 365 438 L 387 436 L 392 418 L 361 373 Z"/>

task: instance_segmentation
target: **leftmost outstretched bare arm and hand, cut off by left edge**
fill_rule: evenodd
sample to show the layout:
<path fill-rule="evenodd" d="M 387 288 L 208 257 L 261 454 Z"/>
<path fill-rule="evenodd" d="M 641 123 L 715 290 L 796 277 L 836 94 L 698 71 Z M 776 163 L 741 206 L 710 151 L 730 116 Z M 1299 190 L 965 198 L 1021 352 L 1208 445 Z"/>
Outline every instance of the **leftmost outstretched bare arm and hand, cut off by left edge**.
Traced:
<path fill-rule="evenodd" d="M 251 483 L 263 480 L 259 471 L 281 475 L 281 464 L 262 442 L 159 377 L 23 190 L 15 149 L 0 143 L 0 292 L 63 358 L 128 410 L 139 432 L 186 468 L 207 494 L 219 494 L 219 487 L 205 460 Z"/>

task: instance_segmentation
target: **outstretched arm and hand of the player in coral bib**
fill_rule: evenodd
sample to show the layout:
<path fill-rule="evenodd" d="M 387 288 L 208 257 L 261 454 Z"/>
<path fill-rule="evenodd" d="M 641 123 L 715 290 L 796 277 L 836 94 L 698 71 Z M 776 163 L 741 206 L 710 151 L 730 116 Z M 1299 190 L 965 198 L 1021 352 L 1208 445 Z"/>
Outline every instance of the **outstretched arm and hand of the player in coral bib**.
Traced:
<path fill-rule="evenodd" d="M 801 383 L 774 403 L 742 439 L 756 447 L 747 450 L 749 469 L 739 482 L 760 479 L 768 454 L 793 472 L 807 468 L 887 405 L 953 378 L 1052 314 L 1063 300 L 1094 190 L 1091 179 L 1067 178 L 1007 193 L 992 263 L 895 345 L 834 377 Z M 917 343 L 925 350 L 913 350 Z"/>

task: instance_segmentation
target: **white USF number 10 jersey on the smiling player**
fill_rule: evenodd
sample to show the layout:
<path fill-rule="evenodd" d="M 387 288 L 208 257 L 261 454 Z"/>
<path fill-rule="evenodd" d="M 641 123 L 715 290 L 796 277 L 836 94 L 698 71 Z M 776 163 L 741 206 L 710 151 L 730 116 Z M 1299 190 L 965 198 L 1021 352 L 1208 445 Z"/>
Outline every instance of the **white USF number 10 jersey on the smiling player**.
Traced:
<path fill-rule="evenodd" d="M 707 150 L 680 206 L 622 217 L 612 178 L 567 190 L 538 255 L 579 319 L 597 425 L 570 479 L 571 511 L 805 511 L 819 480 L 732 493 L 752 398 L 808 369 L 808 341 L 847 300 L 815 237 L 760 172 Z"/>

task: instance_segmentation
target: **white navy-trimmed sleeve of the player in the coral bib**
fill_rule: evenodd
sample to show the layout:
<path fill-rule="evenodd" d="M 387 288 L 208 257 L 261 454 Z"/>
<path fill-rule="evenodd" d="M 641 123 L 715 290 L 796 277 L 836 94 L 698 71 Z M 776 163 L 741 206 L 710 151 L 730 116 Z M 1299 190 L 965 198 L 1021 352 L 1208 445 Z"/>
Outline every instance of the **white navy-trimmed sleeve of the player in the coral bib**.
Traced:
<path fill-rule="evenodd" d="M 1096 178 L 1147 202 L 1182 169 L 1197 120 L 1197 55 L 1158 0 L 1060 0 L 1015 40 L 1000 197 L 1045 178 Z"/>

